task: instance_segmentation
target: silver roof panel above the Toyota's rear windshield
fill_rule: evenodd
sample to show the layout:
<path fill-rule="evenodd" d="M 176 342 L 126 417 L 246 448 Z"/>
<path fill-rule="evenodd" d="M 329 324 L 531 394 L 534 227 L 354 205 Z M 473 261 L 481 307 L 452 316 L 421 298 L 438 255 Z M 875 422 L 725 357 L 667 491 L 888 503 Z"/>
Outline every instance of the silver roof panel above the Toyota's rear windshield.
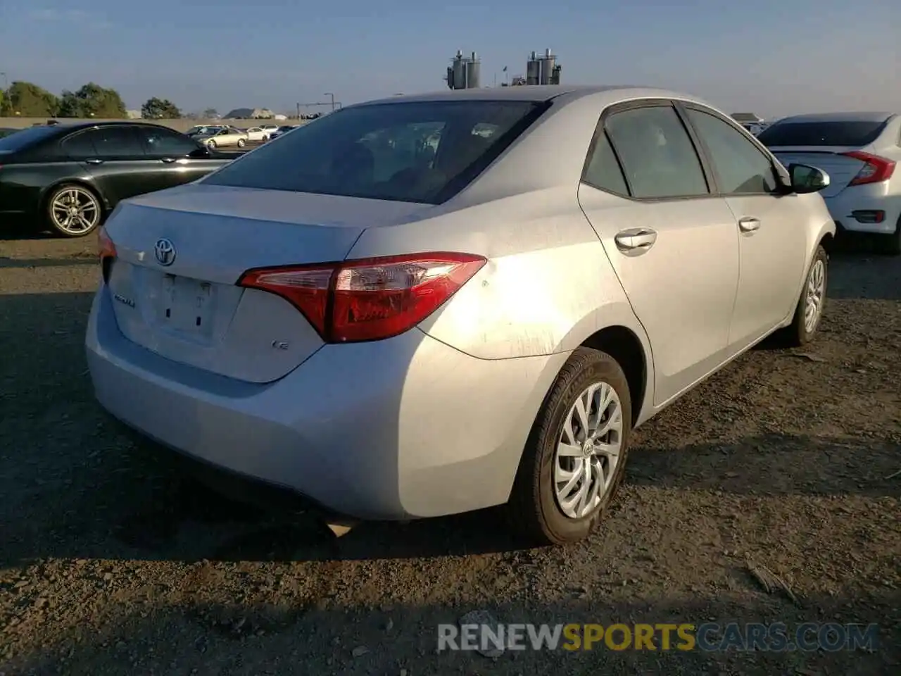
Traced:
<path fill-rule="evenodd" d="M 523 87 L 484 87 L 481 89 L 446 89 L 423 94 L 410 94 L 404 96 L 387 96 L 365 103 L 349 105 L 373 105 L 404 102 L 425 101 L 533 101 L 542 103 L 552 98 L 567 96 L 568 98 L 580 98 L 592 94 L 617 93 L 623 98 L 692 98 L 683 94 L 677 94 L 667 89 L 656 87 L 641 87 L 636 85 L 528 85 Z"/>

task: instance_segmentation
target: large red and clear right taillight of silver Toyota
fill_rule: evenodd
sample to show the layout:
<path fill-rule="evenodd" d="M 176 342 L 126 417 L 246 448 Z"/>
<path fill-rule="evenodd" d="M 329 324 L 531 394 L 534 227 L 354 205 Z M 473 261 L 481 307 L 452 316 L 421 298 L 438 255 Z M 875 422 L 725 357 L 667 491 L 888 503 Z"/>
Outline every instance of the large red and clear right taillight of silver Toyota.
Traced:
<path fill-rule="evenodd" d="M 285 298 L 327 343 L 375 341 L 422 322 L 486 262 L 469 253 L 414 253 L 251 269 L 238 286 Z"/>

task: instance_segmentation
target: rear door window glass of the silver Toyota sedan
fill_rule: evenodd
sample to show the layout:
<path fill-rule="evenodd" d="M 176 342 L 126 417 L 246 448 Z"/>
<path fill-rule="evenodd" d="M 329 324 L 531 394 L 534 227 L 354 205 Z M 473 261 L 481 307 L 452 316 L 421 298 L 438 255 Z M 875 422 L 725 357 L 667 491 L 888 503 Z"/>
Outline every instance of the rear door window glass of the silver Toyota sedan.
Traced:
<path fill-rule="evenodd" d="M 709 194 L 701 160 L 672 106 L 614 113 L 605 127 L 634 197 Z"/>

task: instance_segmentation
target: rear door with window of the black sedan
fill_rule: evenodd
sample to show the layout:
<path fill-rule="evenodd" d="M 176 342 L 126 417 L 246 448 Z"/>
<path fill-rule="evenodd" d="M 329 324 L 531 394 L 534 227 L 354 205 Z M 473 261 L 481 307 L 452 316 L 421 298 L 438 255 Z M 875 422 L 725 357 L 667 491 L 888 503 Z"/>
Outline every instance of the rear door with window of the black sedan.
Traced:
<path fill-rule="evenodd" d="M 94 127 L 69 136 L 62 144 L 68 157 L 81 162 L 112 203 L 153 189 L 159 161 L 144 153 L 134 125 Z"/>

